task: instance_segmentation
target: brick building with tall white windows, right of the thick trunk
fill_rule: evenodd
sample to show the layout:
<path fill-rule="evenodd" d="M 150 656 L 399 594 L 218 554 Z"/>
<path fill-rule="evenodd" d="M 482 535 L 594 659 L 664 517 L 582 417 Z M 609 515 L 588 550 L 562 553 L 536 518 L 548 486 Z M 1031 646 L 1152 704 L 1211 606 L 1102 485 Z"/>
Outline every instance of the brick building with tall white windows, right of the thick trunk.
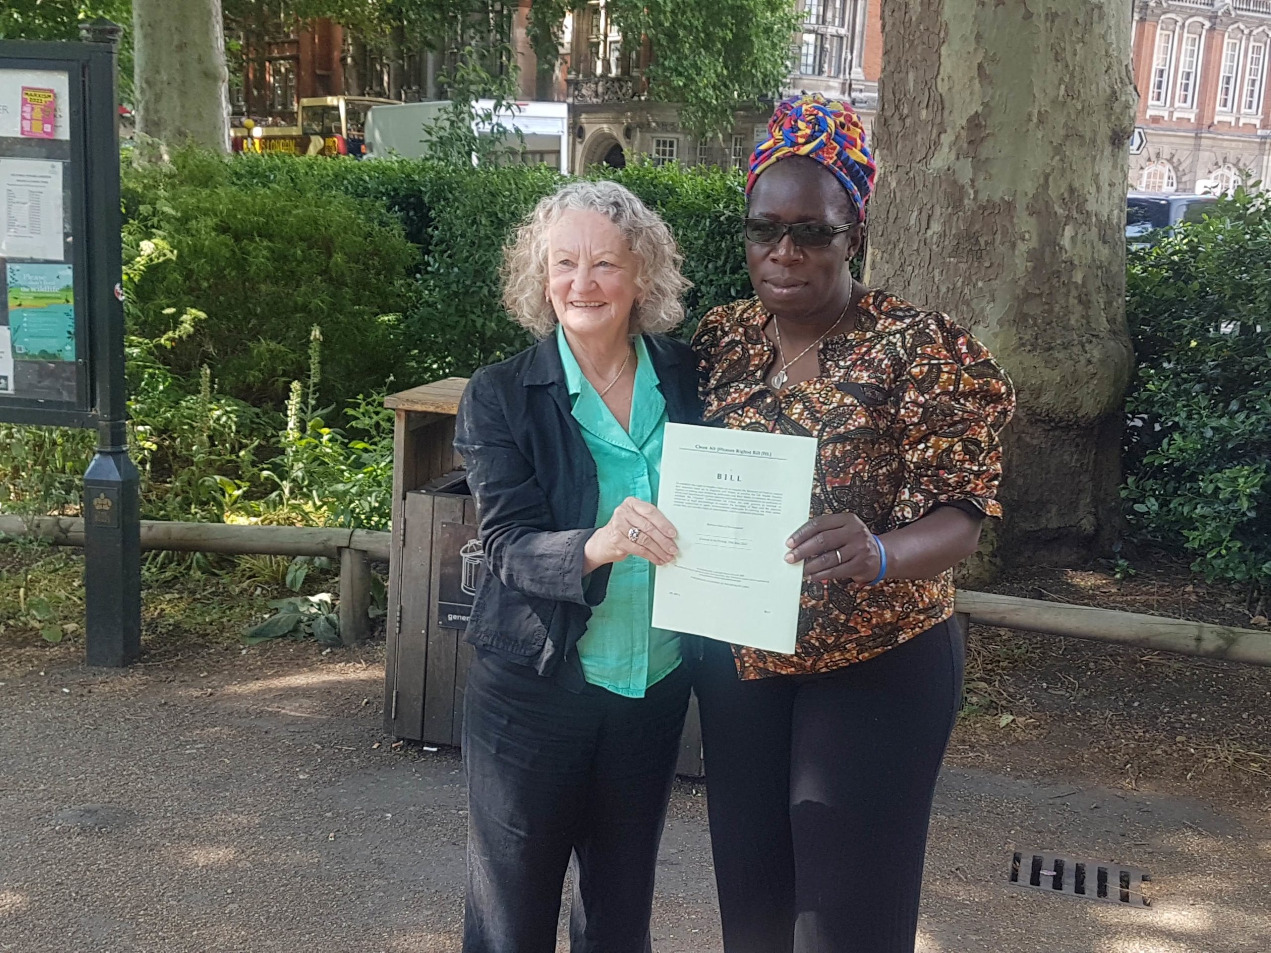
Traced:
<path fill-rule="evenodd" d="M 1130 187 L 1225 192 L 1271 182 L 1271 0 L 1139 0 Z"/>

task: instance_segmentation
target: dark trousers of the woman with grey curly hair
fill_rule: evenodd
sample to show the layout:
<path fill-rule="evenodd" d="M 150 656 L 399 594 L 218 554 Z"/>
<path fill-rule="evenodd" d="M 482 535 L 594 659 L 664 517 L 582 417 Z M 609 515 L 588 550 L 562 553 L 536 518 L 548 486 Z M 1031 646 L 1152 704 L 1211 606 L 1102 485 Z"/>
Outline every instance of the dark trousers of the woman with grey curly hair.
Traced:
<path fill-rule="evenodd" d="M 649 948 L 653 870 L 690 676 L 643 699 L 478 653 L 464 698 L 464 953 L 553 953 L 574 859 L 573 953 Z"/>

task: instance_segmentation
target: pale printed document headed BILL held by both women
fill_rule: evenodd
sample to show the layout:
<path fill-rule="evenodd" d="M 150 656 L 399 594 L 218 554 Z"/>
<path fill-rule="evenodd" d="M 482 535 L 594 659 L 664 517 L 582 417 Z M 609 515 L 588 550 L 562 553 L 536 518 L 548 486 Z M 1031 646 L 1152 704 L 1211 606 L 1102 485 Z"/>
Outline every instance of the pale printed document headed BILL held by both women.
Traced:
<path fill-rule="evenodd" d="M 816 440 L 666 424 L 657 507 L 680 554 L 657 568 L 653 625 L 794 652 L 803 565 L 785 540 L 807 522 Z"/>

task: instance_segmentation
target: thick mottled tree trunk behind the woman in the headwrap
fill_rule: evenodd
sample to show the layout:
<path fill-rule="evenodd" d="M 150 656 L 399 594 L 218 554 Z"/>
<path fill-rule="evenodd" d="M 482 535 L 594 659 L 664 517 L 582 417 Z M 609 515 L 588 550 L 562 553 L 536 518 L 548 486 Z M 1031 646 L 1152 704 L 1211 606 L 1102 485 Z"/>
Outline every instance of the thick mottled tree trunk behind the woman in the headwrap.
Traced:
<path fill-rule="evenodd" d="M 1130 29 L 1125 0 L 882 4 L 866 280 L 1016 382 L 995 562 L 1071 563 L 1120 527 Z"/>

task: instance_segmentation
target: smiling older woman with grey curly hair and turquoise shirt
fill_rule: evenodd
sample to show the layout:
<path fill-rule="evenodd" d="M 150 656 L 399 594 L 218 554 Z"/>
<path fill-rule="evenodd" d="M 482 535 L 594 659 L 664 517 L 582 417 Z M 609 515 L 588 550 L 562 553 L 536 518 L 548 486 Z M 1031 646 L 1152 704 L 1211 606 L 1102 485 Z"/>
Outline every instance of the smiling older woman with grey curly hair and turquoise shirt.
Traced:
<path fill-rule="evenodd" d="M 573 953 L 649 948 L 689 700 L 683 639 L 651 621 L 676 555 L 653 501 L 666 423 L 702 418 L 691 351 L 658 334 L 684 318 L 680 260 L 613 182 L 544 198 L 506 250 L 505 304 L 540 341 L 473 375 L 455 438 L 488 571 L 466 635 L 466 953 L 552 953 L 571 855 Z"/>

